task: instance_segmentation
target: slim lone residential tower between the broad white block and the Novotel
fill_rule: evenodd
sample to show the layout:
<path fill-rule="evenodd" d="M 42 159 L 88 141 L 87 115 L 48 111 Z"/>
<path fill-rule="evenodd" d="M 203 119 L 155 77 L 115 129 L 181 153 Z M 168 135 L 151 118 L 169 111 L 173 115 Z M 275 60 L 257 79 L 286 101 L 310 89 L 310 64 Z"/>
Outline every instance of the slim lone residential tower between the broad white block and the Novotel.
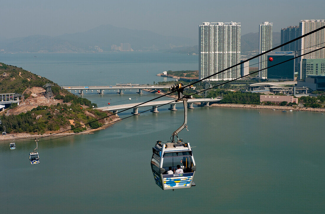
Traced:
<path fill-rule="evenodd" d="M 260 36 L 259 39 L 260 54 L 272 48 L 272 36 L 273 36 L 272 30 L 273 30 L 273 23 L 265 21 L 262 24 L 260 24 L 260 28 L 258 31 Z M 264 54 L 259 57 L 258 69 L 260 70 L 264 68 L 267 68 L 267 54 Z M 267 69 L 259 72 L 259 78 L 261 79 L 267 78 Z"/>

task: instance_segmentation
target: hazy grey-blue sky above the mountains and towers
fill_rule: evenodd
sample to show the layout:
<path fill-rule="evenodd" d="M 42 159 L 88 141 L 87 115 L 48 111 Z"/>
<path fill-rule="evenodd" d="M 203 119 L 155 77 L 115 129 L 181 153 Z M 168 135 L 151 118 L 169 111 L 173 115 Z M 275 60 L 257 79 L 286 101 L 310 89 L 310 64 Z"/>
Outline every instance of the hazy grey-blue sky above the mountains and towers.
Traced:
<path fill-rule="evenodd" d="M 273 31 L 301 19 L 325 19 L 324 0 L 1 0 L 0 37 L 58 36 L 111 24 L 163 35 L 198 38 L 203 21 L 241 22 L 242 34 L 258 32 L 263 21 Z"/>

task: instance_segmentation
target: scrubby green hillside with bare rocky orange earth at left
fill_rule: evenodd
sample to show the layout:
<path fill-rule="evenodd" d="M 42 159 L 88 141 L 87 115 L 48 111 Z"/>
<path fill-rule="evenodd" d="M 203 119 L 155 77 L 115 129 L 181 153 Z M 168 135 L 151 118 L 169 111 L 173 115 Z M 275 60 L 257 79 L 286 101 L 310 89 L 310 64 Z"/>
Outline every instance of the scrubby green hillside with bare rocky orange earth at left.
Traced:
<path fill-rule="evenodd" d="M 97 129 L 103 124 L 118 120 L 111 116 L 88 125 L 94 120 L 110 116 L 111 112 L 93 109 L 97 107 L 86 98 L 78 97 L 65 89 L 39 75 L 16 66 L 0 63 L 0 94 L 19 93 L 19 105 L 11 104 L 10 107 L 0 112 L 0 131 L 9 134 L 24 133 L 22 136 L 32 137 L 35 134 L 49 135 L 57 132 L 79 128 L 67 133 L 78 133 L 87 129 Z M 48 98 L 43 86 L 51 84 L 53 96 Z M 18 94 L 18 95 L 19 95 Z M 83 126 L 84 125 L 84 126 Z M 7 140 L 0 136 L 0 139 Z"/>

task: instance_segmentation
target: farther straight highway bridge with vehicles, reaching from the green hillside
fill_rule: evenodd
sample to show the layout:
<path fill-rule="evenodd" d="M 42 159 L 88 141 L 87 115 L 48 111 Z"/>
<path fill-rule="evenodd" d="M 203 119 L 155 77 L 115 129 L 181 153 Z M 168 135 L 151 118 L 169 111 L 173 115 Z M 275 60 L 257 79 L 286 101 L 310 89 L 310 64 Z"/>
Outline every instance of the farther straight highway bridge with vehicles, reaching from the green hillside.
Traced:
<path fill-rule="evenodd" d="M 161 90 L 161 89 L 169 89 L 169 87 L 172 85 L 138 85 L 138 84 L 133 84 L 133 85 L 107 85 L 107 86 L 63 86 L 62 88 L 70 91 L 73 93 L 77 92 L 79 94 L 84 94 L 85 92 L 97 92 L 98 94 L 104 94 L 105 90 L 117 90 L 116 93 L 118 94 L 123 94 L 123 91 L 125 90 L 132 90 L 132 89 L 137 89 L 138 94 L 142 94 L 143 89 L 149 89 L 149 90 Z M 195 87 L 192 87 L 195 89 Z"/>

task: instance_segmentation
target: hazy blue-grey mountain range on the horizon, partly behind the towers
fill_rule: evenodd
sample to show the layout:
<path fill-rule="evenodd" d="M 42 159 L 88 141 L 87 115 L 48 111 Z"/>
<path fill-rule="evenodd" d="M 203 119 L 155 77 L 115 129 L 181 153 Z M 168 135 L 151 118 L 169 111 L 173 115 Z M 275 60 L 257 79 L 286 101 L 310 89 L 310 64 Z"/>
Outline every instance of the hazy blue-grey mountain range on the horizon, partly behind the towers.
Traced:
<path fill-rule="evenodd" d="M 172 53 L 198 53 L 196 39 L 164 36 L 152 31 L 131 30 L 101 25 L 79 33 L 63 34 L 57 37 L 32 35 L 21 38 L 0 38 L 0 50 L 11 52 L 86 52 L 96 51 L 94 46 L 103 51 L 110 51 L 111 45 L 120 46 L 130 43 L 133 50 L 164 50 Z M 280 33 L 273 33 L 273 44 L 280 43 Z M 195 46 L 193 46 L 195 45 Z M 183 46 L 173 48 L 175 46 Z M 241 52 L 258 50 L 258 33 L 241 36 Z"/>

